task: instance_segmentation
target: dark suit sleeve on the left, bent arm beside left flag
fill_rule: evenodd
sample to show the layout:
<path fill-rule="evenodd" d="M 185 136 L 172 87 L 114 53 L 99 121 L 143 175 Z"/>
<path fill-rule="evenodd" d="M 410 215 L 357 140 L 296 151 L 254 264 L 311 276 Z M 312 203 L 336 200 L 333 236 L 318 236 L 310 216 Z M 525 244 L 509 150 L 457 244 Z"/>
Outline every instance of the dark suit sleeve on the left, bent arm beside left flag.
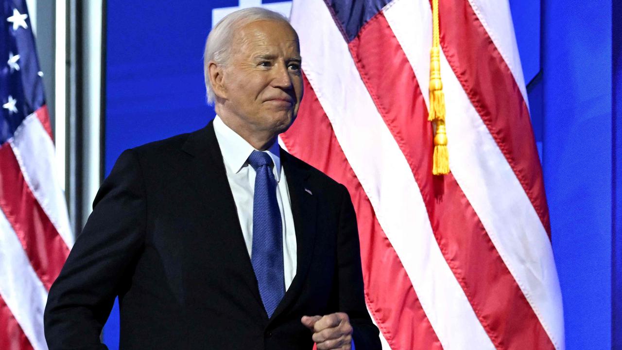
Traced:
<path fill-rule="evenodd" d="M 146 225 L 144 180 L 125 151 L 93 202 L 93 213 L 53 283 L 44 314 L 50 350 L 104 350 L 101 329 L 129 280 Z"/>

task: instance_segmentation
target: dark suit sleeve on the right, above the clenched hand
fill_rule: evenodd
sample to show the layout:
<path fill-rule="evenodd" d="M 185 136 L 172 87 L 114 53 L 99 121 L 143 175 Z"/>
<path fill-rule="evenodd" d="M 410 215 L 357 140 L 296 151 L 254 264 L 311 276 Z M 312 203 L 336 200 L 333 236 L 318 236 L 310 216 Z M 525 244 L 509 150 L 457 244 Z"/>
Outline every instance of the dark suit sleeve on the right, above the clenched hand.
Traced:
<path fill-rule="evenodd" d="M 356 350 L 380 350 L 378 328 L 371 322 L 365 306 L 356 214 L 348 190 L 344 186 L 341 189 L 337 237 L 339 310 L 350 318 Z"/>

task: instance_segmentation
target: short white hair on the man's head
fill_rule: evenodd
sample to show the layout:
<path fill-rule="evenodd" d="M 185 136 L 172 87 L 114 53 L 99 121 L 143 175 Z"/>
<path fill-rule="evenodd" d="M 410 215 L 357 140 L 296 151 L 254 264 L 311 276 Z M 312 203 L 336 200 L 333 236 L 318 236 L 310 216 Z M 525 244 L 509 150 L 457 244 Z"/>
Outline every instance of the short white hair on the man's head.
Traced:
<path fill-rule="evenodd" d="M 281 21 L 289 25 L 287 18 L 279 12 L 270 11 L 262 7 L 248 7 L 231 12 L 211 30 L 205 42 L 203 54 L 203 73 L 205 75 L 205 89 L 207 90 L 207 103 L 213 104 L 216 94 L 211 86 L 208 65 L 211 61 L 217 65 L 226 65 L 231 56 L 231 44 L 233 35 L 243 26 L 255 21 Z M 293 29 L 292 29 L 293 30 Z"/>

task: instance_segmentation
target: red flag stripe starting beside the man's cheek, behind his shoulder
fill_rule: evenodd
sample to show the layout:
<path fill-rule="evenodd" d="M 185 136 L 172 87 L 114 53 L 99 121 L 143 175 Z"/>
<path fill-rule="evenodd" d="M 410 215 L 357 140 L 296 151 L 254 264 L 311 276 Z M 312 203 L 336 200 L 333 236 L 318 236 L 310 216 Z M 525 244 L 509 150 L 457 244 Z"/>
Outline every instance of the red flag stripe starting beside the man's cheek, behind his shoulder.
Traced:
<path fill-rule="evenodd" d="M 391 348 L 442 349 L 411 280 L 341 150 L 322 105 L 306 77 L 304 82 L 305 93 L 297 119 L 281 134 L 281 139 L 290 153 L 348 187 L 356 210 L 369 310 Z"/>

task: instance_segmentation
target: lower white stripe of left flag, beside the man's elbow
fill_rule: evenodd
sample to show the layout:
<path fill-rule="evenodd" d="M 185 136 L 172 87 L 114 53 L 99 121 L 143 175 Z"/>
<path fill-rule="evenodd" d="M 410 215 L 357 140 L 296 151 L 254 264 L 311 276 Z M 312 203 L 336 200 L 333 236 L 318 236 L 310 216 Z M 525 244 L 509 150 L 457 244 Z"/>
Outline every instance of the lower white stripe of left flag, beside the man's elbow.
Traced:
<path fill-rule="evenodd" d="M 47 350 L 43 313 L 47 291 L 0 210 L 0 296 L 35 350 Z"/>

